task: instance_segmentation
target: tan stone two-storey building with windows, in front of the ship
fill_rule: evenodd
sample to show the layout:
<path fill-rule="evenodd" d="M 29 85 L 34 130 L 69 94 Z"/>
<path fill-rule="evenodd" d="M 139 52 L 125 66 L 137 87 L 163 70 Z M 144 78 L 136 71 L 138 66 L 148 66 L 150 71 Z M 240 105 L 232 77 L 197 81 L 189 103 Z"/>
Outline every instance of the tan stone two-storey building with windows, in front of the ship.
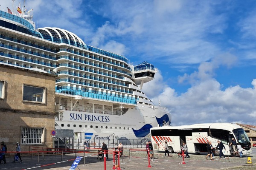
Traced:
<path fill-rule="evenodd" d="M 0 141 L 8 151 L 53 146 L 55 75 L 0 63 Z"/>

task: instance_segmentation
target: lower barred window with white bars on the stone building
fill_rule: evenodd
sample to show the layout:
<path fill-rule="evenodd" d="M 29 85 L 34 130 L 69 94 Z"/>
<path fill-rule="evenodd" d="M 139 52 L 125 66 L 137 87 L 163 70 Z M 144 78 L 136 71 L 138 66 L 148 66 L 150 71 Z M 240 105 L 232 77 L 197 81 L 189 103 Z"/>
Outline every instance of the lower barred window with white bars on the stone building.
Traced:
<path fill-rule="evenodd" d="M 22 127 L 21 144 L 42 144 L 44 142 L 44 128 Z"/>

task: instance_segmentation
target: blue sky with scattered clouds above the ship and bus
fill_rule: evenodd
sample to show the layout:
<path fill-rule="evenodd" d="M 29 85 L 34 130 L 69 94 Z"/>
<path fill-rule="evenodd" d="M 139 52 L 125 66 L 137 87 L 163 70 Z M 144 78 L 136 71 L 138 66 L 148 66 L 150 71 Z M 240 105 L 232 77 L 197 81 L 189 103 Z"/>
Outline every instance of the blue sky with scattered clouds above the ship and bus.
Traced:
<path fill-rule="evenodd" d="M 26 0 L 25 8 L 36 28 L 153 64 L 158 72 L 142 90 L 171 111 L 171 125 L 256 125 L 255 0 Z"/>

